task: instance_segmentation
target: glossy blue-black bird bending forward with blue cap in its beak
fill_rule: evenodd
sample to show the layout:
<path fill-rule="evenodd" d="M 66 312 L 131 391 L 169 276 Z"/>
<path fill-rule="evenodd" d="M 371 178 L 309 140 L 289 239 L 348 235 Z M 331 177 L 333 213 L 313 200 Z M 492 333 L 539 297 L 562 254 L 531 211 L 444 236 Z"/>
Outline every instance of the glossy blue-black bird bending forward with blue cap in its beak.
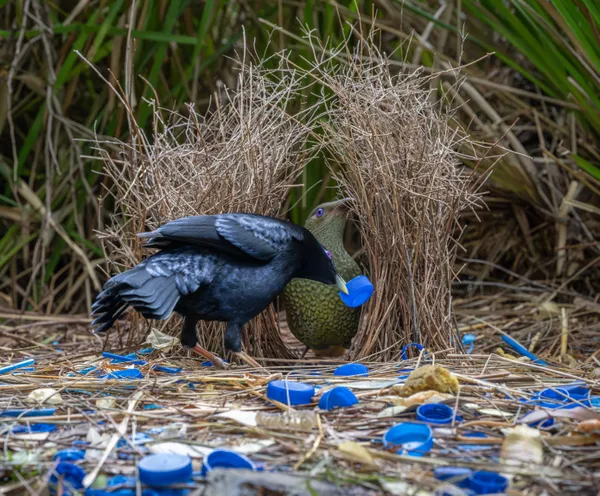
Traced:
<path fill-rule="evenodd" d="M 158 253 L 110 279 L 92 305 L 92 326 L 104 332 L 132 306 L 144 317 L 184 317 L 181 343 L 217 365 L 198 345 L 199 320 L 227 322 L 225 348 L 253 366 L 242 351 L 244 324 L 262 312 L 293 278 L 337 284 L 331 255 L 307 229 L 254 214 L 184 217 L 156 231 L 146 248 Z"/>

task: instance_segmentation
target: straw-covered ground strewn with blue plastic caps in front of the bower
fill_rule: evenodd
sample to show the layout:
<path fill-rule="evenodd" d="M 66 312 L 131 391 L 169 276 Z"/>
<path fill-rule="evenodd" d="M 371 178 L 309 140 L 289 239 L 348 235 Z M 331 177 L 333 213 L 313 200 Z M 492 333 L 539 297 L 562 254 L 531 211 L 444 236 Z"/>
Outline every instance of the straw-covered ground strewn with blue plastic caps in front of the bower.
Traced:
<path fill-rule="evenodd" d="M 0 361 L 5 494 L 191 495 L 223 468 L 337 477 L 353 494 L 593 494 L 598 484 L 593 366 L 411 345 L 390 363 L 218 370 L 178 348 L 102 352 L 84 328 L 55 334 Z M 398 388 L 426 363 L 453 373 L 458 393 L 403 398 Z M 510 434 L 517 426 L 528 430 Z M 530 455 L 507 444 L 531 432 L 520 441 L 533 442 Z"/>

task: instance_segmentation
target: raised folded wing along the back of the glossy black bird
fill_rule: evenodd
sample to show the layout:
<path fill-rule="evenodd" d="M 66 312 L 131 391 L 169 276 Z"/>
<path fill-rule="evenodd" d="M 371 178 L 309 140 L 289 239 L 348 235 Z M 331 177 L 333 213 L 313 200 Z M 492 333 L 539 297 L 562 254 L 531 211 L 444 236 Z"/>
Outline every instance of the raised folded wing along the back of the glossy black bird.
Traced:
<path fill-rule="evenodd" d="M 292 240 L 302 241 L 298 226 L 252 214 L 184 217 L 138 236 L 150 238 L 149 248 L 196 245 L 224 251 L 236 257 L 269 261 Z"/>

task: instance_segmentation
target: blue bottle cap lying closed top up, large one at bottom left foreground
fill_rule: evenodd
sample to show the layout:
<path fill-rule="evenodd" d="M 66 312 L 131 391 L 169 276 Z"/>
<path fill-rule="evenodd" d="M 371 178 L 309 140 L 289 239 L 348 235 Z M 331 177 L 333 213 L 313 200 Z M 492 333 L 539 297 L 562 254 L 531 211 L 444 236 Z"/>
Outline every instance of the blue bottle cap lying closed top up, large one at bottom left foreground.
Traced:
<path fill-rule="evenodd" d="M 192 477 L 192 459 L 186 455 L 157 453 L 142 458 L 138 471 L 140 481 L 149 486 L 188 482 Z"/>

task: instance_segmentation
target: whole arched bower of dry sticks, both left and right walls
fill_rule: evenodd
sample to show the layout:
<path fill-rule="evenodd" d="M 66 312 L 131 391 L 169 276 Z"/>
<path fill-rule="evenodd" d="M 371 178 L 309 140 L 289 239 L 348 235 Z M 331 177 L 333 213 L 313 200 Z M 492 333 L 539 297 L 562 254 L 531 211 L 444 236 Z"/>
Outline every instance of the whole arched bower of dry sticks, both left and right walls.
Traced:
<path fill-rule="evenodd" d="M 198 115 L 189 108 L 183 116 L 157 108 L 153 136 L 134 127 L 131 143 L 99 145 L 119 212 L 100 233 L 114 264 L 108 272 L 147 256 L 137 233 L 178 217 L 285 217 L 296 178 L 321 154 L 339 197 L 354 199 L 349 229 L 357 231 L 360 260 L 375 286 L 347 358 L 398 358 L 409 342 L 436 351 L 456 346 L 451 284 L 459 217 L 483 206 L 477 192 L 485 179 L 461 160 L 477 161 L 490 147 L 471 142 L 457 127 L 451 101 L 440 105 L 434 98 L 436 76 L 398 73 L 372 38 L 351 53 L 337 47 L 306 70 L 291 67 L 285 52 L 268 64 L 251 55 L 239 63 L 237 87 L 215 96 L 214 110 Z M 317 82 L 329 93 L 315 90 L 321 96 L 306 103 L 307 85 Z M 118 161 L 114 146 L 121 151 Z M 298 355 L 285 312 L 278 310 L 247 326 L 244 344 L 251 355 Z M 131 331 L 128 339 L 135 340 L 151 326 L 170 333 L 181 322 L 147 322 L 131 313 L 116 332 Z M 223 350 L 221 325 L 201 323 L 199 336 L 202 346 Z"/>

